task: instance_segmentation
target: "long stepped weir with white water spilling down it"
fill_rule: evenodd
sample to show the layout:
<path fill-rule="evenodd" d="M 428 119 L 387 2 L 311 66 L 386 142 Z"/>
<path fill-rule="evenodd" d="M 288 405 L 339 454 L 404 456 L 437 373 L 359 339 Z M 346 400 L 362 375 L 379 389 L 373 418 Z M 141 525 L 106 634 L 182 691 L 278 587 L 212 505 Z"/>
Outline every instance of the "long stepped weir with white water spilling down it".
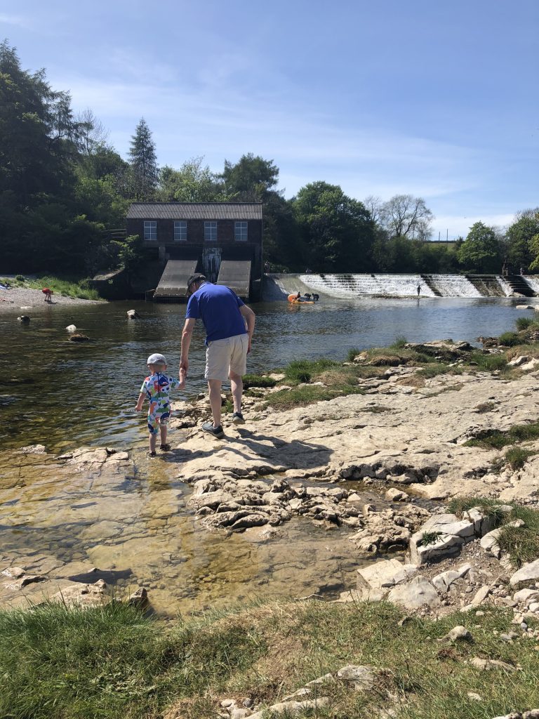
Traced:
<path fill-rule="evenodd" d="M 515 290 L 518 286 L 519 290 Z M 264 275 L 265 301 L 285 300 L 291 293 L 318 293 L 321 297 L 521 297 L 539 293 L 539 278 L 501 275 Z M 529 293 L 529 294 L 528 294 Z"/>

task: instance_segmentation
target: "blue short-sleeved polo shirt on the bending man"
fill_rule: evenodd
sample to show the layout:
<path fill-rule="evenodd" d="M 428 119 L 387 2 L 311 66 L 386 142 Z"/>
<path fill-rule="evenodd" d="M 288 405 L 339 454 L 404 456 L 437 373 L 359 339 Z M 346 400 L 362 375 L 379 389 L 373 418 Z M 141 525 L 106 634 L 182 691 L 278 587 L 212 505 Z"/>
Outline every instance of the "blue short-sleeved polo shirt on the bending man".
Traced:
<path fill-rule="evenodd" d="M 239 311 L 244 302 L 224 285 L 204 283 L 187 304 L 185 319 L 201 319 L 206 328 L 206 344 L 236 334 L 247 334 L 245 320 Z"/>

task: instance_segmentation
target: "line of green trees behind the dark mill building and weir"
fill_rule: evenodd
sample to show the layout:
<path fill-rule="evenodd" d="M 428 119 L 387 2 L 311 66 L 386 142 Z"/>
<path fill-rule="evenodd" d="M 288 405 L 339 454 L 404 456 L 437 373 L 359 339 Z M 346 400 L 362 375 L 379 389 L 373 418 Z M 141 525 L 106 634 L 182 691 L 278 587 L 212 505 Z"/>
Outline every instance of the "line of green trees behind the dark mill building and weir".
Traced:
<path fill-rule="evenodd" d="M 323 180 L 292 198 L 277 189 L 279 168 L 249 152 L 213 172 L 203 157 L 157 165 L 147 122 L 128 158 L 108 142 L 91 109 L 78 115 L 45 70 L 23 70 L 0 45 L 0 271 L 93 275 L 139 256 L 125 226 L 132 201 L 263 202 L 264 259 L 272 270 L 326 273 L 499 273 L 539 269 L 539 208 L 506 229 L 476 222 L 452 244 L 429 242 L 433 214 L 423 198 L 359 201 Z"/>

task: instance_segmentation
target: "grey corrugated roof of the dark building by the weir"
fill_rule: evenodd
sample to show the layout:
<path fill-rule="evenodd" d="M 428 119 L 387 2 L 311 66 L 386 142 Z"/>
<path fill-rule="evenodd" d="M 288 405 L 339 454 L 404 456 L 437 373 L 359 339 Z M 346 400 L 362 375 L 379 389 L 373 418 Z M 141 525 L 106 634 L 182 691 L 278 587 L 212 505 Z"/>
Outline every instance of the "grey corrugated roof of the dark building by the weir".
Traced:
<path fill-rule="evenodd" d="M 261 220 L 261 202 L 134 202 L 130 220 Z"/>

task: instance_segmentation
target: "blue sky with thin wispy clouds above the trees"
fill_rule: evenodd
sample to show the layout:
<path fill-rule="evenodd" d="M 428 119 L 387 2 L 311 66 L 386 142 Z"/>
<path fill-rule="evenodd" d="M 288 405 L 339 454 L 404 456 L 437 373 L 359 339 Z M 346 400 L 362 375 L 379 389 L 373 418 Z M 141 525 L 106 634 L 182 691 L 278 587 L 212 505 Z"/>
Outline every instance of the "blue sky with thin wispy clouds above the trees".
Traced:
<path fill-rule="evenodd" d="M 144 116 L 162 165 L 410 193 L 434 239 L 539 205 L 539 0 L 2 0 L 0 37 L 124 157 Z"/>

